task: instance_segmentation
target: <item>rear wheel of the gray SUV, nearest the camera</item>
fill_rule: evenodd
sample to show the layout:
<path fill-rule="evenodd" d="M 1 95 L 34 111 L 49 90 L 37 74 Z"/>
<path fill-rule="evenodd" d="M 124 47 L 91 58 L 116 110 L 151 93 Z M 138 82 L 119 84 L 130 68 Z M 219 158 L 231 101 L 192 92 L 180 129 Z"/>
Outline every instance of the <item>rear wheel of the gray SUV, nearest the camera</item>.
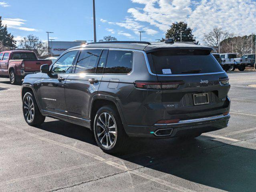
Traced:
<path fill-rule="evenodd" d="M 101 107 L 94 119 L 93 132 L 98 146 L 106 153 L 121 152 L 128 143 L 123 124 L 116 108 L 109 105 Z"/>

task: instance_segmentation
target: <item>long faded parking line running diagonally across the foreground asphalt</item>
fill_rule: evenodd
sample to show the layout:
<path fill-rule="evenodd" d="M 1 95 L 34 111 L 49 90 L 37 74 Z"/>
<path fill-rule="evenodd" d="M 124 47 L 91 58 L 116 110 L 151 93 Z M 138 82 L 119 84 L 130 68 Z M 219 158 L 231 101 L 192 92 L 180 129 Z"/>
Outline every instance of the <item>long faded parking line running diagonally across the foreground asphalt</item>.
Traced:
<path fill-rule="evenodd" d="M 5 123 L 5 124 L 6 124 L 6 123 Z M 148 175 L 148 174 L 141 173 L 141 172 L 136 171 L 136 170 L 129 170 L 126 166 L 117 164 L 117 163 L 115 163 L 115 162 L 113 162 L 113 161 L 105 161 L 104 158 L 102 158 L 102 157 L 100 157 L 100 156 L 97 156 L 97 155 L 95 155 L 95 154 L 93 154 L 93 153 L 87 152 L 87 151 L 85 151 L 85 150 L 81 150 L 81 149 L 79 149 L 79 148 L 75 148 L 75 147 L 69 146 L 69 145 L 67 145 L 67 144 L 63 144 L 63 143 L 60 143 L 60 142 L 56 142 L 56 141 L 54 141 L 54 140 L 50 140 L 50 139 L 47 139 L 47 138 L 38 136 L 38 135 L 36 135 L 36 134 L 30 133 L 30 132 L 25 131 L 25 130 L 20 130 L 20 129 L 18 129 L 18 128 L 12 128 L 10 125 L 8 125 L 8 127 L 9 127 L 10 129 L 12 129 L 12 130 L 16 130 L 17 132 L 29 134 L 30 136 L 32 136 L 32 137 L 34 137 L 34 138 L 37 138 L 37 139 L 40 139 L 40 140 L 43 140 L 43 141 L 46 141 L 46 142 L 49 142 L 49 143 L 52 143 L 52 144 L 55 144 L 55 145 L 58 145 L 58 146 L 62 146 L 62 147 L 65 147 L 65 148 L 68 148 L 68 149 L 71 149 L 71 150 L 74 150 L 74 151 L 76 151 L 76 152 L 79 152 L 79 153 L 84 154 L 84 155 L 86 155 L 86 156 L 92 157 L 92 158 L 94 158 L 94 159 L 96 159 L 96 160 L 99 160 L 99 161 L 101 161 L 101 162 L 104 162 L 104 163 L 106 163 L 106 164 L 108 164 L 108 165 L 114 166 L 114 167 L 119 168 L 119 169 L 121 169 L 121 170 L 125 170 L 125 171 L 128 171 L 128 172 L 131 172 L 131 173 L 133 173 L 133 174 L 135 174 L 135 175 L 138 175 L 138 176 L 141 176 L 141 177 L 146 178 L 146 179 L 148 179 L 148 180 L 151 180 L 151 181 L 157 182 L 157 183 L 159 183 L 159 184 L 165 185 L 165 186 L 167 186 L 167 187 L 169 187 L 169 188 L 173 188 L 173 189 L 175 189 L 175 190 L 185 191 L 185 192 L 195 192 L 195 191 L 193 191 L 193 190 L 189 190 L 189 189 L 187 189 L 187 188 L 183 188 L 183 187 L 181 187 L 181 186 L 172 184 L 172 183 L 170 183 L 170 182 L 161 180 L 161 179 L 159 179 L 159 178 L 155 178 L 155 177 L 150 176 L 150 175 Z M 43 175 L 42 175 L 42 176 L 43 176 Z M 38 176 L 37 176 L 37 177 L 38 177 Z M 19 180 L 22 180 L 22 178 L 17 179 L 17 181 L 19 181 Z"/>

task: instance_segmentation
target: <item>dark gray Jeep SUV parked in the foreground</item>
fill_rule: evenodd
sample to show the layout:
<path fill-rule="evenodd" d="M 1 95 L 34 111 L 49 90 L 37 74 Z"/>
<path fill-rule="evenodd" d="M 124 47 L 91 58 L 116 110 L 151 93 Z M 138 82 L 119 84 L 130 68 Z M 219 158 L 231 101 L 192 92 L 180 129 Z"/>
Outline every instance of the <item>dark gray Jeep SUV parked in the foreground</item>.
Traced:
<path fill-rule="evenodd" d="M 228 76 L 212 48 L 191 42 L 100 42 L 74 47 L 25 77 L 23 114 L 93 130 L 99 147 L 121 151 L 129 137 L 194 138 L 230 118 Z"/>

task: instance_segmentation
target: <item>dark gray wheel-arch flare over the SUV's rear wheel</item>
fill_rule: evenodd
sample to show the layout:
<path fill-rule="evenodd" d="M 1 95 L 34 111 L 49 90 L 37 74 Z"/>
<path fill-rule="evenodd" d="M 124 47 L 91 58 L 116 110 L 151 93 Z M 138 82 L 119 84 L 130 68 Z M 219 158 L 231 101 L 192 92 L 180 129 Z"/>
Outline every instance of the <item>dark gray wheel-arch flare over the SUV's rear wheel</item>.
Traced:
<path fill-rule="evenodd" d="M 93 102 L 95 100 L 98 100 L 98 99 L 103 99 L 103 100 L 109 100 L 111 102 L 113 102 L 115 104 L 115 106 L 117 107 L 117 111 L 119 112 L 119 115 L 121 117 L 121 120 L 123 122 L 124 125 L 126 125 L 126 122 L 125 122 L 125 117 L 123 115 L 123 111 L 121 110 L 121 106 L 119 104 L 119 100 L 116 99 L 115 97 L 113 96 L 110 96 L 110 95 L 104 95 L 104 94 L 97 94 L 97 95 L 94 95 L 91 97 L 91 101 L 89 103 L 89 119 L 91 120 L 91 112 L 93 110 Z"/>

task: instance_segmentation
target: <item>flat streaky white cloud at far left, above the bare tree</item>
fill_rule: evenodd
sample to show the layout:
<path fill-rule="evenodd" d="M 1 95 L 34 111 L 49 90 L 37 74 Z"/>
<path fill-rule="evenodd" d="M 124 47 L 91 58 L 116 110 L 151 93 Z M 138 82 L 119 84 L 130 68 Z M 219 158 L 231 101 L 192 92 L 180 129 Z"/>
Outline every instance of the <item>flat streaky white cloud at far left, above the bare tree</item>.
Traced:
<path fill-rule="evenodd" d="M 37 29 L 34 28 L 23 27 L 22 25 L 25 24 L 25 21 L 26 20 L 20 18 L 5 18 L 2 20 L 2 24 L 7 25 L 8 28 L 13 29 L 19 29 L 24 31 L 38 31 Z"/>

